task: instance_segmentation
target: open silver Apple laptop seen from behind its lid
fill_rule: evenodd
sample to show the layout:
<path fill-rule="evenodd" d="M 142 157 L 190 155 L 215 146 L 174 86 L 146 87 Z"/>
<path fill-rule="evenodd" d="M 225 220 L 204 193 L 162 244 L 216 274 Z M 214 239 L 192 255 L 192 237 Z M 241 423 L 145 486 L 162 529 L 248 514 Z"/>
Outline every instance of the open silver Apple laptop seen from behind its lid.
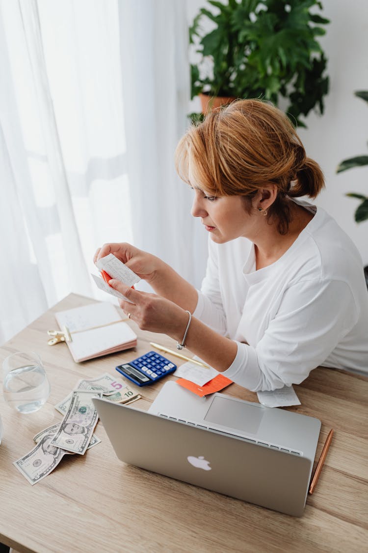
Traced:
<path fill-rule="evenodd" d="M 94 398 L 121 461 L 300 517 L 321 421 L 167 382 L 149 411 Z"/>

